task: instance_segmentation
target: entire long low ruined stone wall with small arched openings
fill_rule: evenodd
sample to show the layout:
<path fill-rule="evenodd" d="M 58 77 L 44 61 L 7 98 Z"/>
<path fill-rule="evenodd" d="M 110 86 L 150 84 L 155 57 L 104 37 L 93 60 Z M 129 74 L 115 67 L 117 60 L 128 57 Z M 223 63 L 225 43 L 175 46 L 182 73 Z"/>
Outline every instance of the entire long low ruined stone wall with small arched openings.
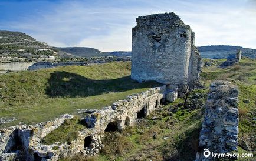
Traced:
<path fill-rule="evenodd" d="M 0 159 L 12 160 L 58 160 L 80 153 L 83 156 L 96 155 L 104 145 L 101 137 L 104 132 L 123 130 L 145 118 L 159 108 L 161 102 L 171 102 L 177 98 L 177 92 L 166 86 L 151 88 L 145 92 L 127 96 L 112 106 L 102 110 L 80 110 L 85 117 L 82 120 L 87 128 L 77 132 L 77 137 L 70 143 L 56 142 L 43 145 L 41 140 L 52 130 L 58 128 L 65 119 L 72 115 L 63 115 L 54 121 L 37 125 L 17 125 L 0 130 Z"/>

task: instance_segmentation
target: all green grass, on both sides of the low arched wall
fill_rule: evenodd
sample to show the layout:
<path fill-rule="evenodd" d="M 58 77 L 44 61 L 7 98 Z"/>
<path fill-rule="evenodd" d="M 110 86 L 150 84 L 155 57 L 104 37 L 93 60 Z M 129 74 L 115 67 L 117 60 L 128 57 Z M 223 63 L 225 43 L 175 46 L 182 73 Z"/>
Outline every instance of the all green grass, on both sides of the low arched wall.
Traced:
<path fill-rule="evenodd" d="M 225 59 L 216 59 L 212 66 L 203 68 L 201 78 L 205 89 L 195 90 L 189 96 L 191 101 L 195 93 L 202 94 L 199 102 L 203 105 L 200 108 L 180 107 L 175 113 L 170 112 L 170 109 L 183 102 L 183 98 L 179 98 L 151 113 L 134 128 L 106 133 L 103 139 L 106 147 L 98 156 L 84 158 L 78 155 L 64 160 L 162 160 L 163 157 L 194 160 L 204 117 L 204 103 L 209 85 L 214 80 L 228 80 L 238 86 L 238 135 L 252 143 L 251 140 L 256 138 L 256 121 L 253 119 L 256 116 L 256 61 L 243 58 L 234 66 L 219 68 L 218 65 L 224 61 Z M 19 119 L 15 123 L 41 122 L 61 113 L 76 113 L 76 109 L 101 108 L 117 99 L 126 98 L 130 93 L 138 93 L 156 85 L 154 82 L 133 82 L 129 75 L 130 62 L 70 66 L 3 75 L 0 78 L 3 92 L 0 117 L 15 116 Z M 249 100 L 249 103 L 245 103 L 245 100 Z M 153 119 L 154 116 L 157 119 Z M 77 130 L 83 128 L 79 118 L 70 119 L 47 135 L 42 143 L 74 140 Z M 153 139 L 155 132 L 157 137 Z M 255 143 L 250 146 L 254 149 L 252 153 L 256 155 Z M 238 147 L 238 153 L 249 152 Z"/>

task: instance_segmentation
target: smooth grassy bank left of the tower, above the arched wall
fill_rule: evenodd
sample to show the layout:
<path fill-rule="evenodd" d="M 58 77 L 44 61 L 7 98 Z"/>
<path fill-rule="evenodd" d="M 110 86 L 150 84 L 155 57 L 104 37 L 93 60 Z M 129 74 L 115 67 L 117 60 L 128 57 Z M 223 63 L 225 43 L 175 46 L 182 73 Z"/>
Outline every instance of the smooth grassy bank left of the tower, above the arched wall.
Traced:
<path fill-rule="evenodd" d="M 99 109 L 156 85 L 130 79 L 130 62 L 63 66 L 0 76 L 0 117 L 38 123 L 77 109 Z M 0 127 L 3 125 L 0 125 Z"/>

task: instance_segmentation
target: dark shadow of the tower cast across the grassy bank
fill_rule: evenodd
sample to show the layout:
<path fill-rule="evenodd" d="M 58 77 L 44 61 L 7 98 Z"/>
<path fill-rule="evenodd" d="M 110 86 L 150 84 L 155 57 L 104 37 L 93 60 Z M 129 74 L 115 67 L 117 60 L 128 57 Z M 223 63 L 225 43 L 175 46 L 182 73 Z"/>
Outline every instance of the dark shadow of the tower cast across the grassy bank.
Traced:
<path fill-rule="evenodd" d="M 130 76 L 108 79 L 92 80 L 75 73 L 56 71 L 48 79 L 49 86 L 45 93 L 50 97 L 95 96 L 103 93 L 124 92 L 132 89 L 151 88 L 159 86 L 157 82 L 137 83 Z"/>

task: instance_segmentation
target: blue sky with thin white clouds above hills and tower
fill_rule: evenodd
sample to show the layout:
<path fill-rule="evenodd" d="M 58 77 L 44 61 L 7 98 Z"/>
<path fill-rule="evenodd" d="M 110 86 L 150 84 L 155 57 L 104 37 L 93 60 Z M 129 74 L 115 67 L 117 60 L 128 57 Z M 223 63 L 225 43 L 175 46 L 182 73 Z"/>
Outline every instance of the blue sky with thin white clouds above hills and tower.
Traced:
<path fill-rule="evenodd" d="M 130 51 L 137 16 L 175 12 L 196 33 L 196 46 L 256 49 L 256 0 L 0 0 L 0 29 L 51 46 Z"/>

